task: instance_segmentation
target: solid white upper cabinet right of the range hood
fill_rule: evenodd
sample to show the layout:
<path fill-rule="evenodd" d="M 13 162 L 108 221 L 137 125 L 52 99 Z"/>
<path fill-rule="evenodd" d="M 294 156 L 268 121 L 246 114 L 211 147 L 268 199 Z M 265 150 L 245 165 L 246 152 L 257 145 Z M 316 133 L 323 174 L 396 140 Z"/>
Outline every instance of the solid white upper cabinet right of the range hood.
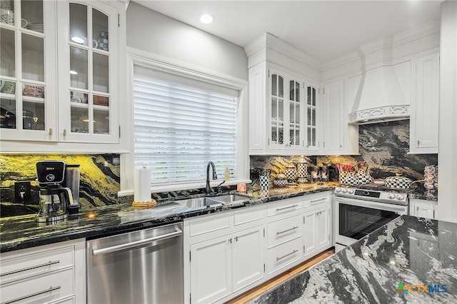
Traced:
<path fill-rule="evenodd" d="M 438 153 L 439 53 L 416 59 L 416 98 L 411 100 L 411 153 Z"/>

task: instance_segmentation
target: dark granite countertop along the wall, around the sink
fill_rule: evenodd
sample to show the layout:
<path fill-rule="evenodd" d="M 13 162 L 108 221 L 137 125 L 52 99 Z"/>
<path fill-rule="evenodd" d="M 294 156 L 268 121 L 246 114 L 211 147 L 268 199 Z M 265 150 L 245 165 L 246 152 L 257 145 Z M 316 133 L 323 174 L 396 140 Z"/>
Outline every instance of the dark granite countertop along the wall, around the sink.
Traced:
<path fill-rule="evenodd" d="M 248 190 L 252 198 L 246 206 L 278 201 L 284 198 L 311 193 L 331 191 L 338 183 L 308 183 L 288 188 L 271 188 L 261 191 Z M 236 207 L 236 208 L 242 208 Z M 227 206 L 189 208 L 167 199 L 155 207 L 134 208 L 129 203 L 94 208 L 72 215 L 61 223 L 37 223 L 34 215 L 14 216 L 0 219 L 0 252 L 30 248 L 76 238 L 99 238 L 104 235 L 124 233 L 131 230 L 151 228 L 174 223 L 184 218 L 230 210 Z"/>

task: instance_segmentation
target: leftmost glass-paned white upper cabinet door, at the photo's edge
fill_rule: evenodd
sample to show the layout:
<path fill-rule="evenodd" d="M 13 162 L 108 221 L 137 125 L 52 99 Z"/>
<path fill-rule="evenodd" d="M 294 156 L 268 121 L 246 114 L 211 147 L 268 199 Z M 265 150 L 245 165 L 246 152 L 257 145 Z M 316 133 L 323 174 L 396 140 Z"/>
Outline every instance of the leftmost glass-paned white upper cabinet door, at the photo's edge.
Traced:
<path fill-rule="evenodd" d="M 1 0 L 1 138 L 56 141 L 54 1 Z"/>

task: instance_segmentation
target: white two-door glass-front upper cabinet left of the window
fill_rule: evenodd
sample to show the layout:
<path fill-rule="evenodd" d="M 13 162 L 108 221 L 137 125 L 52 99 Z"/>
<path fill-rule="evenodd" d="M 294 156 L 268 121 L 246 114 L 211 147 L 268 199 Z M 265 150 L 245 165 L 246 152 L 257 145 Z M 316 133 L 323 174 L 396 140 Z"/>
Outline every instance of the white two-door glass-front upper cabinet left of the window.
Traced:
<path fill-rule="evenodd" d="M 0 5 L 1 140 L 119 143 L 120 6 Z"/>

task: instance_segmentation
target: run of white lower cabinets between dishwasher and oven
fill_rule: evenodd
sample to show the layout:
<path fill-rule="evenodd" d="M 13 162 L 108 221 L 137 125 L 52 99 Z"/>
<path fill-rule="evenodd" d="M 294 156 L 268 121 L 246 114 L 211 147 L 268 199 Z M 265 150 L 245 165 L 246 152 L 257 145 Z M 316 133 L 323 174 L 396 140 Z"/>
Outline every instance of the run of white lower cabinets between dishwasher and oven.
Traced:
<path fill-rule="evenodd" d="M 224 303 L 331 248 L 332 197 L 326 191 L 185 219 L 185 303 Z"/>

